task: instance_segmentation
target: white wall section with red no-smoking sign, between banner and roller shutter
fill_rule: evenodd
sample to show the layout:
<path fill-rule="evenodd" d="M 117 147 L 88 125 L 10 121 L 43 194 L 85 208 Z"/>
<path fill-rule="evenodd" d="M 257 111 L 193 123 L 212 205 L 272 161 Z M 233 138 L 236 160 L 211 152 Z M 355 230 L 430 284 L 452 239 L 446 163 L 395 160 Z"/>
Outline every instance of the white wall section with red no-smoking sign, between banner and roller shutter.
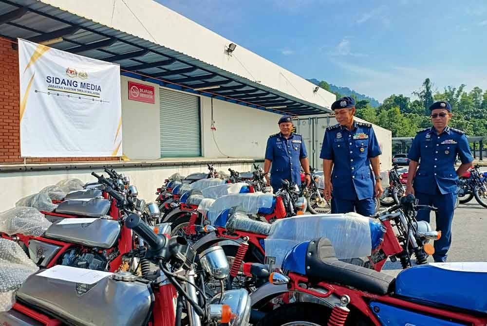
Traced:
<path fill-rule="evenodd" d="M 123 152 L 131 160 L 158 159 L 161 151 L 159 85 L 120 76 Z M 129 100 L 129 81 L 154 87 L 155 103 Z"/>

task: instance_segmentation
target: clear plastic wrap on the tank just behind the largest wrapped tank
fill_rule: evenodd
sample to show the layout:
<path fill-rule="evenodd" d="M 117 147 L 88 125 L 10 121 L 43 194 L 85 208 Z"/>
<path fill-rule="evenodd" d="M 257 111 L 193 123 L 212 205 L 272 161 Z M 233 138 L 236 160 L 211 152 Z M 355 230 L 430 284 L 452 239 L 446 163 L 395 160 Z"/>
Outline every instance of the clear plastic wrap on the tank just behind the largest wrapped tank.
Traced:
<path fill-rule="evenodd" d="M 211 205 L 206 218 L 213 224 L 216 218 L 227 208 L 235 208 L 247 214 L 257 214 L 259 208 L 272 207 L 273 194 L 261 192 L 247 194 L 232 194 L 220 197 Z"/>

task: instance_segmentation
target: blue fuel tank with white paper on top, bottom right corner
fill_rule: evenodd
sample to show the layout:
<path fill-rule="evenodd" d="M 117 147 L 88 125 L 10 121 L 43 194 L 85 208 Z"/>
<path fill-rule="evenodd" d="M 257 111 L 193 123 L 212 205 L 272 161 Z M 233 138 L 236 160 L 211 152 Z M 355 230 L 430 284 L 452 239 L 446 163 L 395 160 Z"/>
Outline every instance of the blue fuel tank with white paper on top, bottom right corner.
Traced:
<path fill-rule="evenodd" d="M 487 296 L 478 294 L 486 288 L 487 262 L 431 263 L 400 272 L 395 293 L 427 304 L 487 313 Z"/>

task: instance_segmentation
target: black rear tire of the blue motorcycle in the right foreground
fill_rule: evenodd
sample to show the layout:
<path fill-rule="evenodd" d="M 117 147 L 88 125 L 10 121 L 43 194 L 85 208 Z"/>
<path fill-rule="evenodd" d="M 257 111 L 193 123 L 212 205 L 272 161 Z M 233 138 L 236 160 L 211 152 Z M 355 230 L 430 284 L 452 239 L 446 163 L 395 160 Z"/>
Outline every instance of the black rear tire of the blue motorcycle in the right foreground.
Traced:
<path fill-rule="evenodd" d="M 319 313 L 318 313 L 319 311 Z M 312 303 L 292 303 L 266 313 L 257 326 L 326 326 L 331 309 Z"/>

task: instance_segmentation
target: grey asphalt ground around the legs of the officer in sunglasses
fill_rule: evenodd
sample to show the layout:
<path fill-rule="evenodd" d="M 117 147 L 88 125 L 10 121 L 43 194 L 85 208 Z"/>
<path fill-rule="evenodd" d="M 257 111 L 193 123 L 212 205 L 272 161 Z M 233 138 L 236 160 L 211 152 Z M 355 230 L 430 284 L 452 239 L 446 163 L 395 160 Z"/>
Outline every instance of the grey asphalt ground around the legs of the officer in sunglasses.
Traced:
<path fill-rule="evenodd" d="M 434 212 L 431 213 L 430 224 L 434 230 Z M 432 257 L 428 257 L 428 261 L 433 262 Z M 448 262 L 475 261 L 487 261 L 487 208 L 473 198 L 466 204 L 460 204 L 453 215 Z M 395 263 L 387 261 L 382 271 L 397 275 L 401 271 L 399 260 Z"/>

